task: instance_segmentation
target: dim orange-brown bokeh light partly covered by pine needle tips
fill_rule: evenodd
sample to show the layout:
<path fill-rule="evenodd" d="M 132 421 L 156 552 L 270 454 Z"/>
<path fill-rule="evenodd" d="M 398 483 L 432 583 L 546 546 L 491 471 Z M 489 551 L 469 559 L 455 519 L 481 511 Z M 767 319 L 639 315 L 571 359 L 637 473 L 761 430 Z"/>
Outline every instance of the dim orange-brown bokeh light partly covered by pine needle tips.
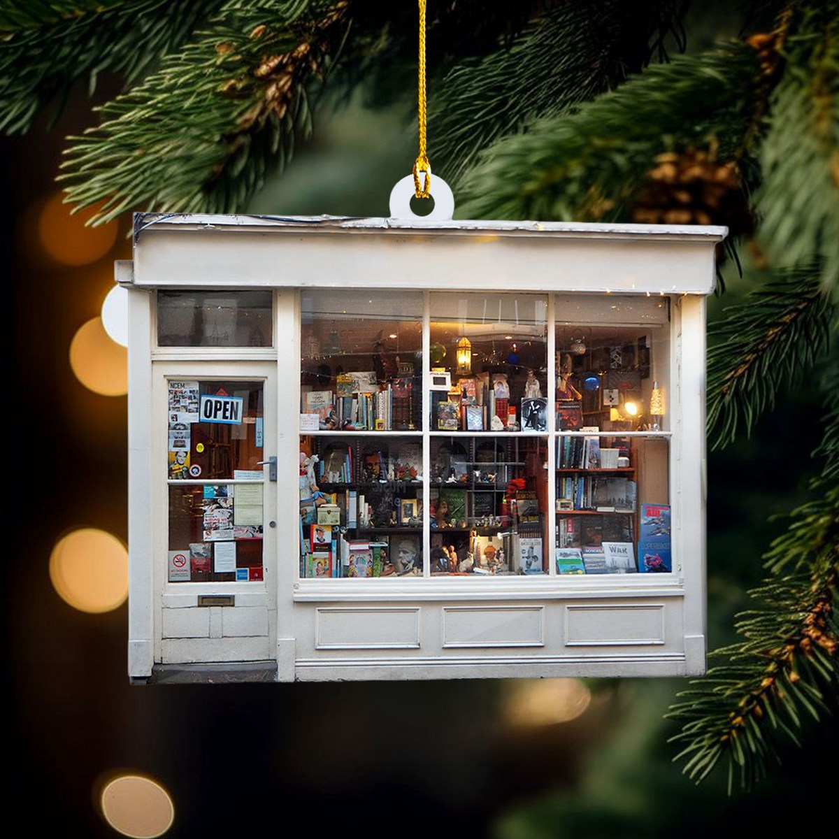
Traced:
<path fill-rule="evenodd" d="M 117 222 L 99 227 L 86 227 L 93 215 L 86 207 L 70 215 L 72 207 L 63 202 L 64 194 L 56 192 L 44 204 L 38 216 L 38 238 L 41 248 L 62 265 L 89 265 L 101 259 L 117 241 Z"/>

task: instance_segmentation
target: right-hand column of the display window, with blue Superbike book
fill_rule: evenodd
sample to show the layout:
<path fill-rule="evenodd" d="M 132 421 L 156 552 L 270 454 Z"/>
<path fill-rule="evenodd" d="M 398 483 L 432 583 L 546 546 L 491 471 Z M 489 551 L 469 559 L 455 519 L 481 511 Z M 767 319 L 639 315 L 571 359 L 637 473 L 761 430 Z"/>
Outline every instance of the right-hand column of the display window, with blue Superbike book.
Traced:
<path fill-rule="evenodd" d="M 555 298 L 555 564 L 666 573 L 670 300 Z"/>

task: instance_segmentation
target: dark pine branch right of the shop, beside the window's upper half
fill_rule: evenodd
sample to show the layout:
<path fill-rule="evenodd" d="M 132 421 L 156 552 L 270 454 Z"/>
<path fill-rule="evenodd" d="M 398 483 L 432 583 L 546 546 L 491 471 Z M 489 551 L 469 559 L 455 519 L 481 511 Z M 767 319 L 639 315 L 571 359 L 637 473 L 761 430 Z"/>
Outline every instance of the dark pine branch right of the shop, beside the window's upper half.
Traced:
<path fill-rule="evenodd" d="M 711 448 L 749 435 L 789 382 L 826 352 L 834 307 L 819 272 L 795 269 L 748 294 L 709 326 L 707 432 Z"/>

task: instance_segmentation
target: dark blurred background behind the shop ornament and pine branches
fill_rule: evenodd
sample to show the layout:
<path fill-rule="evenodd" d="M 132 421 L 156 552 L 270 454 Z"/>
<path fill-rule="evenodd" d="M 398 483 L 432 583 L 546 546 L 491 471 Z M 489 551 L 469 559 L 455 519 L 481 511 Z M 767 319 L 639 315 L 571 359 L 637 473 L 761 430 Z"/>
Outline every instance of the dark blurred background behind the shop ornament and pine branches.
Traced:
<path fill-rule="evenodd" d="M 388 215 L 390 187 L 415 156 L 409 114 L 409 102 L 388 112 L 350 102 L 320 120 L 316 140 L 251 210 Z M 51 552 L 72 530 L 127 538 L 126 398 L 83 385 L 70 343 L 100 314 L 113 260 L 131 257 L 129 220 L 109 244 L 55 204 L 58 215 L 45 215 L 64 138 L 91 122 L 75 91 L 55 126 L 0 145 L 14 339 L 4 404 L 16 464 L 3 586 L 3 787 L 7 812 L 26 831 L 113 836 L 96 795 L 122 770 L 169 791 L 167 836 L 720 837 L 774 831 L 780 816 L 798 830 L 833 821 L 835 721 L 811 728 L 748 795 L 727 795 L 724 773 L 696 787 L 672 763 L 675 729 L 663 719 L 685 680 L 129 685 L 125 605 L 80 611 L 49 573 Z M 89 253 L 104 250 L 67 263 L 50 255 L 50 230 L 80 247 L 93 237 Z M 743 278 L 727 274 L 711 316 L 748 289 L 751 270 L 747 262 Z M 733 615 L 749 606 L 760 557 L 784 529 L 770 517 L 806 497 L 818 415 L 805 390 L 752 440 L 710 456 L 711 646 L 732 638 Z"/>

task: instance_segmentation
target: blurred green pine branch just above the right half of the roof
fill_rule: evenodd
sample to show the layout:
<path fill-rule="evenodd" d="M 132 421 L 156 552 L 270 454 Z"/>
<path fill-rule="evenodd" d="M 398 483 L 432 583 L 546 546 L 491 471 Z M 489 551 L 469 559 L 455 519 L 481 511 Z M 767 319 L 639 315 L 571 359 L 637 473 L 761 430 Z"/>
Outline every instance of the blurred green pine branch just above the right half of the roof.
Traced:
<path fill-rule="evenodd" d="M 743 153 L 760 77 L 748 44 L 652 65 L 576 113 L 493 143 L 461 182 L 458 214 L 625 220 L 663 150 L 710 145 L 722 161 Z"/>

